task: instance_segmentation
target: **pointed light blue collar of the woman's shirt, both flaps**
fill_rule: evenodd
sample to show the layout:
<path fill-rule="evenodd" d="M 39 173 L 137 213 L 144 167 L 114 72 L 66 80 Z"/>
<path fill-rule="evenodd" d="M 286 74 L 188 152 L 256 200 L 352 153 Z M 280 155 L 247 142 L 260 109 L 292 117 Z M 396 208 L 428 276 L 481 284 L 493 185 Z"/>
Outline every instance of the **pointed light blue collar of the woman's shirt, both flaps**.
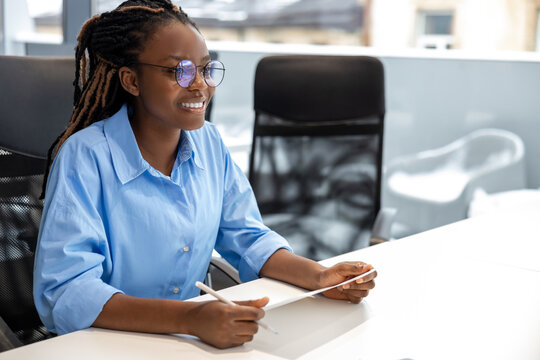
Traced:
<path fill-rule="evenodd" d="M 143 159 L 137 145 L 135 134 L 129 123 L 127 105 L 123 105 L 116 114 L 105 120 L 104 132 L 116 175 L 122 184 L 130 182 L 150 168 L 150 164 Z M 182 134 L 185 136 L 181 136 L 175 167 L 193 156 L 195 165 L 204 169 L 189 131 L 182 131 Z"/>

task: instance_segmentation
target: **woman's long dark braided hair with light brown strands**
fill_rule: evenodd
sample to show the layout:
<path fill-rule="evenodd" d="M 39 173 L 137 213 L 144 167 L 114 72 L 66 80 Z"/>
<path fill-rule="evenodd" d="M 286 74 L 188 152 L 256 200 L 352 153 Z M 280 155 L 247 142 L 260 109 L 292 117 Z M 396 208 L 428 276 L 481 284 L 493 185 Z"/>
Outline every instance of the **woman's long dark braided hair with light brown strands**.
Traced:
<path fill-rule="evenodd" d="M 128 0 L 116 9 L 86 21 L 77 37 L 73 114 L 66 129 L 47 153 L 41 198 L 53 159 L 69 136 L 116 113 L 132 100 L 122 85 L 118 70 L 137 63 L 147 38 L 158 25 L 172 21 L 197 25 L 170 0 Z"/>

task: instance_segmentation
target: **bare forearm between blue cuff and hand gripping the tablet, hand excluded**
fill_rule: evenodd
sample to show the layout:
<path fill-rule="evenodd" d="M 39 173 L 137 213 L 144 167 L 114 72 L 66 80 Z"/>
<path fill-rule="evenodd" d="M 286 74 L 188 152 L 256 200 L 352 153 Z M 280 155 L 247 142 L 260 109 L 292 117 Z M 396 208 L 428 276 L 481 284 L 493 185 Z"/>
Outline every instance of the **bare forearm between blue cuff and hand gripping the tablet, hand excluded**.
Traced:
<path fill-rule="evenodd" d="M 320 274 L 325 269 L 316 261 L 280 249 L 268 258 L 259 275 L 313 290 L 320 288 Z"/>

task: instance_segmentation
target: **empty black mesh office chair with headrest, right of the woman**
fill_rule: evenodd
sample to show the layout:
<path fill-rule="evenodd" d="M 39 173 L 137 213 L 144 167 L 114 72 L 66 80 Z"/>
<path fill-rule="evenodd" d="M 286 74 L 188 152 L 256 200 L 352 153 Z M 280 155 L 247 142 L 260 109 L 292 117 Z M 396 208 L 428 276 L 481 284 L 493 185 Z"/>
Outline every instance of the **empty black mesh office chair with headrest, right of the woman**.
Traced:
<path fill-rule="evenodd" d="M 369 245 L 381 197 L 381 62 L 263 58 L 254 107 L 249 180 L 264 222 L 315 260 Z"/>

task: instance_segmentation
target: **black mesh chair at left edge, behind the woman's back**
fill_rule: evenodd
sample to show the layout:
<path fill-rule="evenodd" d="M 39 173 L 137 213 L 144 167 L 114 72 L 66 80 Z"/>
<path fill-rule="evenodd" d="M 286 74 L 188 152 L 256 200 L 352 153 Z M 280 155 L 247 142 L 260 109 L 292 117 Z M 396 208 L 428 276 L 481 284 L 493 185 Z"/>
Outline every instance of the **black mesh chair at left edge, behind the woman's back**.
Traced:
<path fill-rule="evenodd" d="M 71 116 L 74 73 L 72 58 L 0 56 L 0 351 L 51 336 L 32 271 L 47 150 Z"/>

